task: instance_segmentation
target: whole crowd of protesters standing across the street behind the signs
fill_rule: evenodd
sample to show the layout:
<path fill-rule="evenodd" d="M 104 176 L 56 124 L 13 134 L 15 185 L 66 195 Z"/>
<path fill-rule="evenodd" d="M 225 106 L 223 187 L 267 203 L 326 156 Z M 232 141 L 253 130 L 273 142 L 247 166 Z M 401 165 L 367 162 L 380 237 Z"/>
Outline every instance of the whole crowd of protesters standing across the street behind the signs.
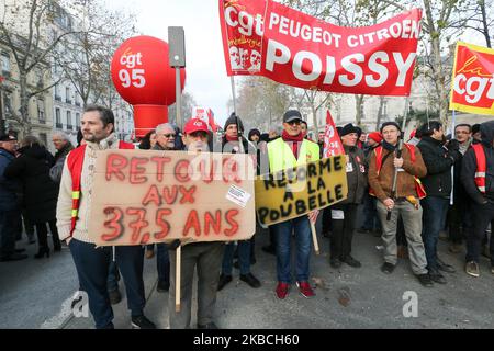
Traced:
<path fill-rule="evenodd" d="M 329 238 L 332 268 L 361 267 L 351 254 L 353 233 L 358 229 L 382 238 L 384 274 L 393 273 L 398 257 L 408 257 L 422 285 L 446 284 L 444 272 L 451 273 L 454 269 L 438 257 L 437 246 L 441 231 L 447 230 L 452 253 L 462 252 L 462 244 L 467 241 L 467 274 L 480 276 L 482 253 L 491 257 L 490 270 L 494 274 L 494 242 L 489 244 L 487 236 L 489 226 L 494 222 L 494 121 L 474 126 L 457 125 L 451 136 L 446 136 L 441 123 L 431 121 L 414 131 L 403 147 L 401 127 L 394 122 L 383 123 L 380 131 L 368 134 L 348 124 L 338 127 L 338 134 L 346 155 L 348 196 L 321 213 L 322 234 Z M 198 328 L 217 328 L 213 320 L 216 292 L 232 282 L 233 267 L 239 269 L 240 281 L 252 288 L 261 286 L 252 272 L 256 236 L 226 245 L 183 246 L 180 312 L 175 309 L 179 241 L 96 248 L 88 235 L 96 151 L 134 146 L 116 138 L 113 113 L 101 106 L 85 110 L 79 140 L 80 145 L 74 148 L 65 134 L 55 133 L 54 157 L 33 136 L 26 136 L 20 144 L 15 135 L 0 136 L 2 262 L 27 258 L 22 249 L 15 248 L 22 224 L 26 233 L 29 227 L 34 227 L 37 234 L 35 258 L 49 258 L 49 227 L 53 251 L 60 251 L 60 241 L 71 251 L 79 290 L 89 296 L 97 328 L 113 328 L 111 305 L 120 302 L 120 274 L 125 283 L 132 326 L 155 328 L 144 315 L 143 281 L 144 259 L 154 258 L 155 250 L 157 291 L 169 292 L 171 328 L 190 328 L 194 285 L 198 286 Z M 272 129 L 262 134 L 251 129 L 246 137 L 242 120 L 233 114 L 222 133 L 212 134 L 205 122 L 191 118 L 183 132 L 168 123 L 156 126 L 141 140 L 139 148 L 251 154 L 257 156 L 257 174 L 263 174 L 317 161 L 324 145 L 322 140 L 308 138 L 301 113 L 290 110 L 283 115 L 281 133 Z M 269 245 L 262 250 L 277 257 L 274 292 L 280 299 L 290 294 L 293 282 L 303 296 L 315 295 L 310 284 L 311 222 L 315 223 L 318 216 L 319 211 L 315 211 L 268 228 Z M 257 233 L 261 230 L 257 226 Z M 296 247 L 294 279 L 292 246 Z"/>

